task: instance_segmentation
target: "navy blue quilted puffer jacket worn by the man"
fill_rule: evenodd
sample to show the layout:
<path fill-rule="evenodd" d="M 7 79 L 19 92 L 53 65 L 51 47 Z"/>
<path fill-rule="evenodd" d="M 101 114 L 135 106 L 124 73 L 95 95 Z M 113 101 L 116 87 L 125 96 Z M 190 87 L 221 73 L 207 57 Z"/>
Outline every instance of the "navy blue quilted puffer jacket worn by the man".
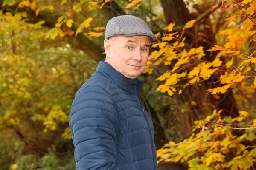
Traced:
<path fill-rule="evenodd" d="M 143 84 L 99 62 L 70 110 L 76 170 L 157 170 L 153 123 L 140 100 Z"/>

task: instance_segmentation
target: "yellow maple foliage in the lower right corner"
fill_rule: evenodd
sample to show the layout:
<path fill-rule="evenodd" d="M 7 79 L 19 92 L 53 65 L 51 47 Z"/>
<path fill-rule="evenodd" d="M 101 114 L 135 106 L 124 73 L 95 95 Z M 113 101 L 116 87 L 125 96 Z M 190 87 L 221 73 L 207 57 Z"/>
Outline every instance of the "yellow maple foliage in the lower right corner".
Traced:
<path fill-rule="evenodd" d="M 226 121 L 220 113 L 215 110 L 205 120 L 216 123 Z M 242 115 L 243 119 L 247 116 Z M 251 140 L 248 133 L 236 136 L 230 128 L 210 125 L 205 121 L 196 121 L 193 131 L 198 128 L 200 133 L 193 133 L 183 142 L 165 144 L 157 151 L 158 162 L 187 161 L 189 170 L 248 170 L 256 162 L 256 147 L 244 144 L 246 140 Z"/>

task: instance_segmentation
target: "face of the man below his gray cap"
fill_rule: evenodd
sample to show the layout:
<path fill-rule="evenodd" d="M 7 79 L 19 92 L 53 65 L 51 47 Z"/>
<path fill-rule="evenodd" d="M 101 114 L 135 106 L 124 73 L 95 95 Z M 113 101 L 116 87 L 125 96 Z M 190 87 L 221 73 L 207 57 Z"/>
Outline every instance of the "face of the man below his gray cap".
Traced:
<path fill-rule="evenodd" d="M 127 78 L 136 78 L 145 69 L 149 54 L 148 36 L 115 36 L 104 40 L 106 62 Z"/>

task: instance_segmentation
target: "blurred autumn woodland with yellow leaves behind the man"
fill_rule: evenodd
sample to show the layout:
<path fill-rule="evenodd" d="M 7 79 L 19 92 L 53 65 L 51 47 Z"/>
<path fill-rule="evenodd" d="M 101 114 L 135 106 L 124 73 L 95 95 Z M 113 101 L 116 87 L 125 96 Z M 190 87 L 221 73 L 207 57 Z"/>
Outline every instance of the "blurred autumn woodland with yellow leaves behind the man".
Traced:
<path fill-rule="evenodd" d="M 255 170 L 255 11 L 254 0 L 0 0 L 0 170 L 75 170 L 70 106 L 105 59 L 106 23 L 124 14 L 158 38 L 139 79 L 159 170 Z"/>

